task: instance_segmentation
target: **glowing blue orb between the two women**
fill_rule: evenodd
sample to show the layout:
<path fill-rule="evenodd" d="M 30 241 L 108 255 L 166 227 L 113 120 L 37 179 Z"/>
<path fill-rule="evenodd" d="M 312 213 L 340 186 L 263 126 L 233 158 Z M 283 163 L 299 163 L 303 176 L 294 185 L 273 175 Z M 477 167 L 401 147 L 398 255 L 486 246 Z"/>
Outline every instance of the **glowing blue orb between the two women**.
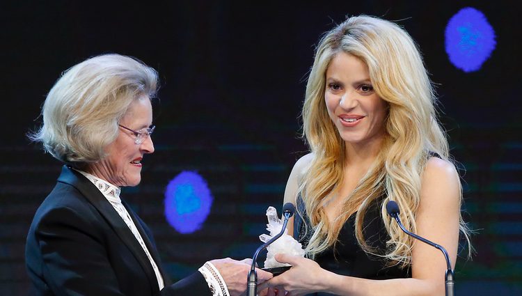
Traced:
<path fill-rule="evenodd" d="M 179 233 L 193 233 L 203 226 L 213 201 L 207 182 L 198 173 L 182 171 L 168 182 L 165 216 Z"/>

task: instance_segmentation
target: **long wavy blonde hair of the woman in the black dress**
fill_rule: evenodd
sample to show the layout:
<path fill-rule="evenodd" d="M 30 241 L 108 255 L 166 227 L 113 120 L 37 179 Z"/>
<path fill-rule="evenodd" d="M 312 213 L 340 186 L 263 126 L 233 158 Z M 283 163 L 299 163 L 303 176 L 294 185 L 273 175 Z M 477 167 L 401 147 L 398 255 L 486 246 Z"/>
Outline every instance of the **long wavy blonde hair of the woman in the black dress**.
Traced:
<path fill-rule="evenodd" d="M 343 181 L 345 143 L 326 110 L 325 73 L 333 57 L 354 55 L 370 72 L 374 91 L 389 106 L 380 153 L 370 170 L 345 198 L 341 215 L 329 222 L 324 210 L 326 198 L 335 194 Z M 370 254 L 383 256 L 391 265 L 411 264 L 413 240 L 397 224 L 390 223 L 384 205 L 388 200 L 402 209 L 406 228 L 416 232 L 416 212 L 420 201 L 422 171 L 430 153 L 449 160 L 448 141 L 436 119 L 436 97 L 422 58 L 404 29 L 377 17 L 349 17 L 325 33 L 317 46 L 315 61 L 306 86 L 303 105 L 303 137 L 313 159 L 299 186 L 312 229 L 308 254 L 314 256 L 335 247 L 342 225 L 354 213 L 358 244 Z M 363 237 L 363 221 L 368 206 L 385 196 L 381 217 L 390 240 L 386 254 L 378 254 Z M 466 239 L 468 229 L 461 219 Z"/>

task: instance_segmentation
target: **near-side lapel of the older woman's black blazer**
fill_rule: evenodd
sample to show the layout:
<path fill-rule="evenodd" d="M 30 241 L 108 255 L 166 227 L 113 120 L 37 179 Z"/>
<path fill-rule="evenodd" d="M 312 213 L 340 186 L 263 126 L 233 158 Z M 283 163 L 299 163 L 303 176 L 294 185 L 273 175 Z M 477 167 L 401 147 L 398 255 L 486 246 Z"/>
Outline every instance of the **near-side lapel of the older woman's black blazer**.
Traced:
<path fill-rule="evenodd" d="M 132 252 L 132 254 L 134 254 L 134 257 L 140 263 L 143 271 L 149 279 L 152 295 L 157 295 L 159 293 L 158 281 L 156 279 L 156 274 L 152 269 L 152 265 L 150 265 L 150 261 L 145 254 L 145 251 L 143 251 L 143 248 L 139 244 L 138 240 L 136 240 L 136 237 L 134 237 L 134 234 L 132 234 L 129 226 L 125 224 L 125 221 L 123 221 L 120 215 L 118 215 L 118 212 L 114 210 L 113 206 L 111 203 L 109 203 L 109 201 L 107 201 L 105 196 L 103 196 L 102 192 L 100 192 L 100 190 L 98 190 L 95 185 L 90 182 L 90 180 L 81 175 L 81 173 L 74 171 L 73 169 L 69 169 L 67 166 L 63 166 L 62 173 L 58 178 L 58 181 L 74 186 L 79 190 L 79 192 L 81 192 L 81 194 L 85 196 L 85 198 L 90 203 L 94 205 L 94 207 L 106 219 L 111 228 L 113 228 L 118 237 L 120 237 L 120 239 L 125 242 L 129 250 Z M 133 214 L 130 215 L 132 216 Z M 134 217 L 133 219 L 136 227 L 139 227 L 138 229 L 140 229 L 141 226 L 136 223 L 136 219 Z M 146 237 L 146 235 L 143 235 L 143 231 L 140 231 L 140 233 L 142 233 L 142 237 Z"/>

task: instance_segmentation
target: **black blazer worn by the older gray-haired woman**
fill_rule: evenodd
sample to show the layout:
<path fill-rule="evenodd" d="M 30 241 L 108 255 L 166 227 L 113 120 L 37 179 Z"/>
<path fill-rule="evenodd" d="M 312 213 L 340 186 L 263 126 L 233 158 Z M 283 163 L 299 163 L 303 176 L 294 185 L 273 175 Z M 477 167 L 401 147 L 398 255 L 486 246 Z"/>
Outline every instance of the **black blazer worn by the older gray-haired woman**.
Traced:
<path fill-rule="evenodd" d="M 157 263 L 165 288 L 159 290 L 145 251 L 111 203 L 81 173 L 63 166 L 27 235 L 31 295 L 211 295 L 200 272 L 169 283 L 152 233 L 123 205 Z"/>

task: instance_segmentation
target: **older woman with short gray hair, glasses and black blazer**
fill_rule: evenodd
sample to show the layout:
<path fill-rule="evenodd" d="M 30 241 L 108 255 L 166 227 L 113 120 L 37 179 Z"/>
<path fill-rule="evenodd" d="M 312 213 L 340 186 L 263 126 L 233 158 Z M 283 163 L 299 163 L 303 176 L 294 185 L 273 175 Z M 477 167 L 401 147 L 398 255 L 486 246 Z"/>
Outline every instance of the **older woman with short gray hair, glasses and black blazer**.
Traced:
<path fill-rule="evenodd" d="M 120 199 L 154 152 L 157 73 L 107 54 L 70 68 L 47 95 L 33 135 L 65 163 L 26 243 L 31 295 L 239 295 L 248 262 L 212 260 L 169 283 L 149 228 Z M 271 277 L 258 270 L 260 280 Z"/>

